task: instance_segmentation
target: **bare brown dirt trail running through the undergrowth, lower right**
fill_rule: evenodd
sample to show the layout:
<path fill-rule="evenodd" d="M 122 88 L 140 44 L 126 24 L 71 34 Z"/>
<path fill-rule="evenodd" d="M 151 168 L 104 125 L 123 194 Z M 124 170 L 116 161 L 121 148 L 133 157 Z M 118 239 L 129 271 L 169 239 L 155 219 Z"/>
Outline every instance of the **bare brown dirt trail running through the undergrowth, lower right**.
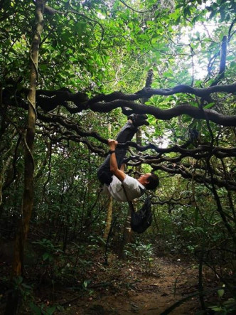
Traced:
<path fill-rule="evenodd" d="M 159 315 L 176 301 L 197 291 L 198 269 L 191 263 L 186 265 L 177 259 L 171 261 L 155 258 L 151 268 L 145 273 L 138 265 L 122 265 L 119 272 L 122 274 L 112 274 L 107 269 L 108 282 L 104 284 L 108 285 L 99 287 L 98 284 L 92 294 L 70 301 L 65 306 L 65 314 Z M 95 288 L 96 285 L 93 286 L 93 289 Z M 193 298 L 171 314 L 191 315 L 195 314 L 197 309 L 198 298 Z"/>

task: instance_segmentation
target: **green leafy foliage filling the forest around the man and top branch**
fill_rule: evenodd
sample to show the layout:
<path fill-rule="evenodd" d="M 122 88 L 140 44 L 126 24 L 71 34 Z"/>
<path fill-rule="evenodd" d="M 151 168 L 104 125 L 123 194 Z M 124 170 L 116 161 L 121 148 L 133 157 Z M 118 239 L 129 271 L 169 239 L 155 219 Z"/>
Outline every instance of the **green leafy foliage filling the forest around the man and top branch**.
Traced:
<path fill-rule="evenodd" d="M 5 241 L 14 235 L 21 218 L 28 50 L 35 31 L 35 1 L 0 1 L 0 10 L 0 220 Z M 73 274 L 80 269 L 78 281 L 86 287 L 91 262 L 83 255 L 93 255 L 103 246 L 107 200 L 96 171 L 106 155 L 107 138 L 116 136 L 127 117 L 123 105 L 122 109 L 96 112 L 94 107 L 85 106 L 88 100 L 114 91 L 136 95 L 152 68 L 151 88 L 162 94 L 142 98 L 145 110 L 178 110 L 188 104 L 228 119 L 234 117 L 235 92 L 212 92 L 205 98 L 196 92 L 163 92 L 176 85 L 195 90 L 232 85 L 235 22 L 233 0 L 46 2 L 38 91 L 48 107 L 43 109 L 38 101 L 31 239 L 42 254 L 39 264 L 51 284 L 60 282 L 62 272 L 63 281 L 67 278 L 75 286 Z M 220 73 L 225 36 L 227 53 Z M 59 97 L 50 108 L 59 89 L 70 91 L 70 99 Z M 48 96 L 45 91 L 54 94 Z M 80 104 L 73 102 L 77 92 L 84 97 L 84 107 L 73 112 L 80 109 Z M 103 99 L 101 102 L 107 105 Z M 141 108 L 138 105 L 136 110 Z M 154 170 L 161 179 L 153 198 L 156 224 L 144 242 L 127 247 L 127 257 L 140 255 L 144 263 L 151 263 L 156 252 L 192 255 L 199 263 L 210 265 L 229 290 L 234 281 L 229 274 L 234 274 L 236 267 L 235 125 L 222 127 L 210 122 L 208 116 L 200 120 L 176 114 L 171 119 L 159 119 L 151 113 L 149 124 L 142 127 L 141 146 L 150 142 L 153 146 L 145 152 L 131 151 L 127 164 L 130 172 L 141 164 L 141 171 Z M 192 129 L 199 137 L 189 142 Z M 115 203 L 114 211 L 121 213 L 110 246 L 117 251 L 122 242 L 125 205 Z M 220 310 L 227 309 L 224 303 Z M 54 306 L 48 310 L 45 305 L 31 306 L 38 314 L 55 311 Z"/>

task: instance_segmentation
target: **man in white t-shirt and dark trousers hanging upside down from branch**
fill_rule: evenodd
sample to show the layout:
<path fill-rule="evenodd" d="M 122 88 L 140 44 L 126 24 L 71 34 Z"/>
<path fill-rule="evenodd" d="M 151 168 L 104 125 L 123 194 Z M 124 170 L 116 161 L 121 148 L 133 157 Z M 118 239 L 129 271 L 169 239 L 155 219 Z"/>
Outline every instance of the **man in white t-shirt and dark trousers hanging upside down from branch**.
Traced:
<path fill-rule="evenodd" d="M 145 173 L 135 179 L 121 169 L 127 146 L 119 148 L 117 144 L 130 141 L 137 132 L 137 127 L 149 124 L 146 122 L 146 114 L 132 114 L 128 119 L 117 139 L 108 140 L 109 155 L 97 171 L 97 177 L 104 184 L 104 191 L 120 202 L 132 201 L 139 198 L 146 189 L 155 190 L 159 186 L 159 178 L 154 173 Z"/>

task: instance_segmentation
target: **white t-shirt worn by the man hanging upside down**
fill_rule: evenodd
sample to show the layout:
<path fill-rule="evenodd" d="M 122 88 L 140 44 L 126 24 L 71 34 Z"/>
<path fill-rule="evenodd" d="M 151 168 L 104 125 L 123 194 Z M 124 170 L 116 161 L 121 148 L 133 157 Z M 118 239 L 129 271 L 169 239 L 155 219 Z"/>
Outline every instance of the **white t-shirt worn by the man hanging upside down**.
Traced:
<path fill-rule="evenodd" d="M 127 201 L 127 197 L 125 196 L 122 185 L 124 185 L 129 201 L 139 198 L 145 191 L 145 187 L 131 176 L 127 175 L 124 178 L 124 181 L 121 182 L 117 176 L 113 175 L 112 182 L 109 184 L 109 186 L 104 184 L 104 192 L 112 195 L 112 198 L 114 198 L 116 201 Z"/>

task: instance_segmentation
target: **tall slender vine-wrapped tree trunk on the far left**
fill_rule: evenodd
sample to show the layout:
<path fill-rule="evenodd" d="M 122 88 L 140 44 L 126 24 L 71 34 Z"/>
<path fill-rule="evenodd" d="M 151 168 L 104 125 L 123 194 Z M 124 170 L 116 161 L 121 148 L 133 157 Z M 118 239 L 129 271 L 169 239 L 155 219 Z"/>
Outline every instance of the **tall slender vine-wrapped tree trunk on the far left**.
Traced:
<path fill-rule="evenodd" d="M 33 209 L 33 142 L 36 132 L 36 87 L 38 80 L 38 50 L 43 31 L 43 0 L 36 0 L 36 31 L 30 51 L 31 73 L 30 88 L 28 92 L 28 127 L 24 137 L 25 145 L 25 171 L 24 171 L 24 192 L 21 206 L 21 216 L 19 219 L 18 231 L 14 249 L 13 274 L 14 278 L 20 277 L 23 272 L 23 252 L 24 244 L 28 235 L 29 222 Z M 19 283 L 18 285 L 21 285 Z M 19 301 L 19 290 L 16 288 L 8 297 L 5 314 L 16 314 Z M 15 305 L 15 307 L 12 307 Z"/>

